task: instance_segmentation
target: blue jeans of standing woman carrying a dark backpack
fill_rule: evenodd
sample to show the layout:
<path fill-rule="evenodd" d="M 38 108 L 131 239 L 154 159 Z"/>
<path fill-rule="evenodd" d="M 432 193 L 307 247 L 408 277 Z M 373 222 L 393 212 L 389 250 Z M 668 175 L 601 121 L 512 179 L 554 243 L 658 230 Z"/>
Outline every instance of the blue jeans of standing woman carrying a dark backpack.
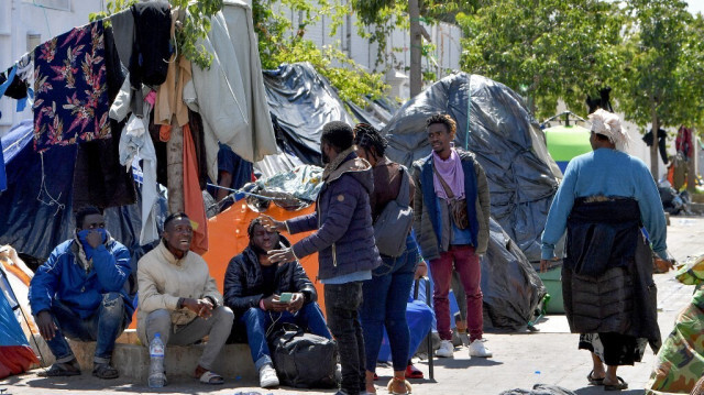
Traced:
<path fill-rule="evenodd" d="M 406 251 L 400 256 L 382 255 L 382 265 L 372 272 L 372 279 L 362 285 L 364 303 L 360 309 L 360 318 L 364 330 L 366 370 L 374 372 L 376 369 L 386 327 L 394 371 L 403 371 L 408 362 L 410 347 L 406 304 L 418 262 L 415 240 L 408 235 Z"/>

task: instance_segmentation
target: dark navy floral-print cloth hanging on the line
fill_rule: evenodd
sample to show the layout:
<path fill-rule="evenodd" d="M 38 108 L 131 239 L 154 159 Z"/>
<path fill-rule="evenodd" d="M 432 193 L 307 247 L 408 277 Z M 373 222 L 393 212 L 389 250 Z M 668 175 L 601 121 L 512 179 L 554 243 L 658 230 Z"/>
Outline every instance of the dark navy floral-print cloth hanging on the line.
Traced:
<path fill-rule="evenodd" d="M 110 138 L 102 21 L 34 50 L 34 149 Z"/>

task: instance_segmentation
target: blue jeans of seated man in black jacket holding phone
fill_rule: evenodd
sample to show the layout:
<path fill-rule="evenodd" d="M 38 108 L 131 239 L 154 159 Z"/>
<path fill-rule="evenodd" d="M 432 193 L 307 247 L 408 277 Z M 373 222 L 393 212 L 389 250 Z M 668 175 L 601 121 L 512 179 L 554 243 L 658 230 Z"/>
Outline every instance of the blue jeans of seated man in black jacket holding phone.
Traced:
<path fill-rule="evenodd" d="M 312 334 L 332 339 L 326 319 L 322 316 L 322 310 L 315 301 L 304 305 L 295 314 L 288 311 L 264 311 L 258 307 L 251 307 L 238 319 L 238 326 L 240 328 L 244 327 L 246 331 L 246 341 L 250 344 L 252 361 L 254 361 L 254 367 L 257 371 L 265 364 L 272 363 L 266 334 L 268 334 L 270 327 L 274 322 L 293 322 Z"/>

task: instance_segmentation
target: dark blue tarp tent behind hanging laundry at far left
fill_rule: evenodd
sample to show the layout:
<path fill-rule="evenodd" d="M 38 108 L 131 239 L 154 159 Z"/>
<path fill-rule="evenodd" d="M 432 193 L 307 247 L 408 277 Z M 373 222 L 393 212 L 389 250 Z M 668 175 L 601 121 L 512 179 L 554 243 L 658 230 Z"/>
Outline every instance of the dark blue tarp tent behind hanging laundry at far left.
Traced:
<path fill-rule="evenodd" d="M 18 251 L 45 260 L 56 245 L 73 238 L 77 145 L 55 146 L 40 154 L 32 147 L 32 120 L 25 120 L 1 140 L 8 189 L 0 193 L 0 212 L 4 216 L 0 244 L 12 244 Z M 160 198 L 157 205 L 157 221 L 162 223 L 165 199 Z M 110 234 L 130 249 L 136 265 L 136 260 L 151 250 L 151 245 L 139 242 L 141 199 L 138 196 L 134 205 L 106 209 L 105 215 Z"/>

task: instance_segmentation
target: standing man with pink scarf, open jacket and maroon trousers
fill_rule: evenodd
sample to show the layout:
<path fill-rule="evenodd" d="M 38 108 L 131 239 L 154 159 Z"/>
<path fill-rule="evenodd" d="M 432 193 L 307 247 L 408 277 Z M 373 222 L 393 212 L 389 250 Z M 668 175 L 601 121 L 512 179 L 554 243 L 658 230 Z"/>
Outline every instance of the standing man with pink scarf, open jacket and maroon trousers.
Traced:
<path fill-rule="evenodd" d="M 437 355 L 451 358 L 454 352 L 448 299 L 454 267 L 466 296 L 470 356 L 492 356 L 482 339 L 480 288 L 491 208 L 486 175 L 471 153 L 452 146 L 457 123 L 450 116 L 432 116 L 426 124 L 432 153 L 414 163 L 414 230 L 422 257 L 430 262 L 441 339 Z"/>

